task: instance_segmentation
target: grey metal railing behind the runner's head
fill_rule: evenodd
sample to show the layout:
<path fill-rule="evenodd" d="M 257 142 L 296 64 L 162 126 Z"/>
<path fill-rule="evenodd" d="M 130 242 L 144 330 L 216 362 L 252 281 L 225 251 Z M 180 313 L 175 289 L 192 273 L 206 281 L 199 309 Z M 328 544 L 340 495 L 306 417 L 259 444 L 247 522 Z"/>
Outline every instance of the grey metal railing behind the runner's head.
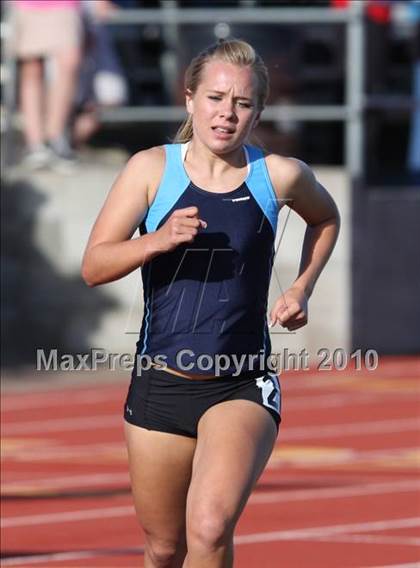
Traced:
<path fill-rule="evenodd" d="M 261 120 L 343 121 L 345 124 L 345 166 L 352 177 L 363 172 L 363 76 L 364 29 L 363 2 L 351 2 L 346 10 L 330 8 L 179 8 L 176 2 L 161 2 L 161 8 L 119 10 L 108 22 L 112 25 L 158 24 L 166 28 L 166 39 L 176 42 L 182 24 L 345 24 L 346 26 L 346 90 L 344 105 L 271 105 L 264 109 Z M 169 28 L 169 32 L 168 32 Z M 104 122 L 179 121 L 185 118 L 182 106 L 139 106 L 109 109 L 102 112 Z"/>

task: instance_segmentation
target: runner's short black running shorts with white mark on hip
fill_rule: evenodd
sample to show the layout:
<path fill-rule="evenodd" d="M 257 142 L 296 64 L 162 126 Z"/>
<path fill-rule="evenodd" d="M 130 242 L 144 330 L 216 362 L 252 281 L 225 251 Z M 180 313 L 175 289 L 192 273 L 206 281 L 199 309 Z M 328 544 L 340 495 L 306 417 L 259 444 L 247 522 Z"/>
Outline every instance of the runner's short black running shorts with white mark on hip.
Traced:
<path fill-rule="evenodd" d="M 187 379 L 154 367 L 139 376 L 133 373 L 124 418 L 148 430 L 196 438 L 198 422 L 206 410 L 237 399 L 251 400 L 266 408 L 278 431 L 280 382 L 275 374 L 264 371 L 210 379 Z"/>

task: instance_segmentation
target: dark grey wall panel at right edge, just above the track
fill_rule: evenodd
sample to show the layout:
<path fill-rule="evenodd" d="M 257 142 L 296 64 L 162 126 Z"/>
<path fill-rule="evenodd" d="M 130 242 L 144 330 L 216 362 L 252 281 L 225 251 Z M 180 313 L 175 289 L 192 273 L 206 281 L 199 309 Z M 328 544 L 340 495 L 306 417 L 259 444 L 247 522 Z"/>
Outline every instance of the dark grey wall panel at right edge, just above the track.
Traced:
<path fill-rule="evenodd" d="M 419 190 L 354 187 L 354 346 L 420 353 Z"/>

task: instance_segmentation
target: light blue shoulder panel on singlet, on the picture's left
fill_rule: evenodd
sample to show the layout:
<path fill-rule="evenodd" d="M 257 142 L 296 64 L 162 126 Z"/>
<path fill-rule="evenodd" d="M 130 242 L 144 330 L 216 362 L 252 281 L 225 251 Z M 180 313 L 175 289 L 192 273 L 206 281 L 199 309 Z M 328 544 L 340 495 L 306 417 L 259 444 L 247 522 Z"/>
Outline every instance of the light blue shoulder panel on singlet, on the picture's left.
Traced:
<path fill-rule="evenodd" d="M 156 231 L 160 221 L 172 209 L 188 187 L 190 180 L 181 160 L 181 144 L 165 144 L 166 164 L 155 200 L 146 218 L 148 233 Z"/>

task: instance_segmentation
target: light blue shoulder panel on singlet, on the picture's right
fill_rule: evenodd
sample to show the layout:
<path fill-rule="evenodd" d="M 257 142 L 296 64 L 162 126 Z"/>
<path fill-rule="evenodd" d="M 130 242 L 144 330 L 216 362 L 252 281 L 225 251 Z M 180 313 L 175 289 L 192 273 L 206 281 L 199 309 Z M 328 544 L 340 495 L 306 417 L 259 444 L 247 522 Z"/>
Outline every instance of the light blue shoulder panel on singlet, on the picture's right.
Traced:
<path fill-rule="evenodd" d="M 271 184 L 264 154 L 259 148 L 248 144 L 245 145 L 245 149 L 248 153 L 248 162 L 251 165 L 251 172 L 246 180 L 246 185 L 264 215 L 270 221 L 274 234 L 276 234 L 280 204 Z"/>

